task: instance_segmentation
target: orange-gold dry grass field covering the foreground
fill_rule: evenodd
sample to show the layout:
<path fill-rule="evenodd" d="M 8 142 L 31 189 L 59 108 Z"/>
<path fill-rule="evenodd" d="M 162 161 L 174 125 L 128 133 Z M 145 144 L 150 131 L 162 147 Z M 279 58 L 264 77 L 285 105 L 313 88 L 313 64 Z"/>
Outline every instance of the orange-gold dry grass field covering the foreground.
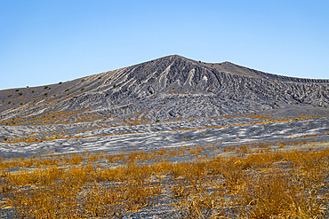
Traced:
<path fill-rule="evenodd" d="M 171 199 L 178 218 L 329 216 L 329 149 L 237 150 L 244 156 L 189 162 L 166 159 L 201 155 L 202 147 L 3 160 L 3 207 L 17 218 L 111 218 Z"/>

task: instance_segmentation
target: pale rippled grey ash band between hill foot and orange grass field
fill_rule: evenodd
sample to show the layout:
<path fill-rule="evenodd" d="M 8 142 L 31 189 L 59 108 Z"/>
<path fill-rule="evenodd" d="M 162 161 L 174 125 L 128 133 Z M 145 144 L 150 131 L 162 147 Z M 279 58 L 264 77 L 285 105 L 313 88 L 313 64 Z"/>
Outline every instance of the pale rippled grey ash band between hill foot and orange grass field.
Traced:
<path fill-rule="evenodd" d="M 285 111 L 285 116 L 290 111 Z M 265 112 L 266 113 L 266 112 Z M 273 112 L 275 114 L 276 112 Z M 180 147 L 183 145 L 229 146 L 250 144 L 252 142 L 291 141 L 292 138 L 314 138 L 316 142 L 329 139 L 329 117 L 311 119 L 262 121 L 255 118 L 232 117 L 217 119 L 200 119 L 196 121 L 156 122 L 155 124 L 137 126 L 118 126 L 94 129 L 71 137 L 52 141 L 33 143 L 0 143 L 0 157 L 29 157 L 39 152 L 81 153 L 108 152 L 120 153 L 123 150 L 146 150 L 163 147 Z M 257 123 L 258 122 L 258 123 Z M 1 127 L 1 132 L 31 132 L 32 130 L 58 129 L 56 127 Z M 70 126 L 69 129 L 75 129 Z M 312 136 L 312 137 L 309 137 Z M 275 147 L 276 145 L 273 145 Z"/>

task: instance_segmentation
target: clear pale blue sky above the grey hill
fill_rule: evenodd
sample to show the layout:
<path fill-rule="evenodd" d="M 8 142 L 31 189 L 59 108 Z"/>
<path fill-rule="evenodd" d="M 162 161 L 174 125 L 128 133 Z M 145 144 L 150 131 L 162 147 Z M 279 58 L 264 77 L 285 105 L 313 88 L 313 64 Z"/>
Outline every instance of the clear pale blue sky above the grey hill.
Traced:
<path fill-rule="evenodd" d="M 0 90 L 172 54 L 329 79 L 329 1 L 0 0 Z"/>

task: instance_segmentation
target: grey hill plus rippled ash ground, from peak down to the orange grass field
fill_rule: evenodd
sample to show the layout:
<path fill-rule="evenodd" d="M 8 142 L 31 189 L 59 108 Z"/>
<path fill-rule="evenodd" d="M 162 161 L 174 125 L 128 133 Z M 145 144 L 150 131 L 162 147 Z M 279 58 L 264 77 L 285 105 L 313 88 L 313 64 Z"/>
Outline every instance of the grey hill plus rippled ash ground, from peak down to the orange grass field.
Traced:
<path fill-rule="evenodd" d="M 307 133 L 320 139 L 329 137 L 328 106 L 329 80 L 174 55 L 74 81 L 0 90 L 0 157 L 237 144 Z"/>

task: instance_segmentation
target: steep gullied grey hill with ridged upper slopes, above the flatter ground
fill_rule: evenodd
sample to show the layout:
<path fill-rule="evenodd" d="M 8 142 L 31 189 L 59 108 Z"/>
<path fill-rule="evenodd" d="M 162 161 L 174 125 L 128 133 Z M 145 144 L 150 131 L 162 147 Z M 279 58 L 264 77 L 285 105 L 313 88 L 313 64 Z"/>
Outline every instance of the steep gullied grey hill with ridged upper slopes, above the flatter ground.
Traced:
<path fill-rule="evenodd" d="M 329 106 L 329 80 L 266 74 L 229 62 L 204 63 L 178 55 L 49 86 L 47 95 L 44 87 L 33 88 L 33 94 L 31 89 L 20 89 L 19 98 L 27 101 L 16 109 L 8 106 L 8 92 L 2 90 L 1 117 L 86 108 L 110 117 L 144 115 L 146 120 L 171 120 L 257 112 L 281 105 Z"/>

